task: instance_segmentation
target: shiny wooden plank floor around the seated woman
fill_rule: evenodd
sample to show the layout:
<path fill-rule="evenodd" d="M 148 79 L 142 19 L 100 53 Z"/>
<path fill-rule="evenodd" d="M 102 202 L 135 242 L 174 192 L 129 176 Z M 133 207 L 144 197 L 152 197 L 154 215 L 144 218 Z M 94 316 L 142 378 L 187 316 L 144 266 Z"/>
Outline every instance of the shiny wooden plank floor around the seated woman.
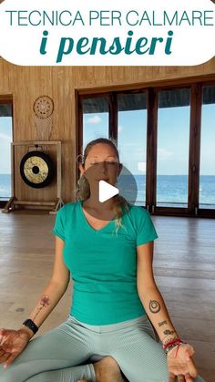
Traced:
<path fill-rule="evenodd" d="M 0 211 L 0 327 L 18 328 L 52 272 L 55 216 Z M 159 233 L 154 271 L 173 324 L 196 349 L 199 374 L 215 382 L 215 221 L 153 217 Z M 67 319 L 69 284 L 38 336 Z"/>

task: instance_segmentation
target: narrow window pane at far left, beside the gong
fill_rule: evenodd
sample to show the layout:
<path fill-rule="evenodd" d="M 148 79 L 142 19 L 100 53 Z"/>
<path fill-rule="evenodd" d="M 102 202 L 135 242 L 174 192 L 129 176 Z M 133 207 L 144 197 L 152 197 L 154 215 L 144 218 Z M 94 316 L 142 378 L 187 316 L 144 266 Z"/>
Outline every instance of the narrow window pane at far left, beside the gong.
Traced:
<path fill-rule="evenodd" d="M 0 199 L 11 196 L 12 105 L 0 104 Z"/>

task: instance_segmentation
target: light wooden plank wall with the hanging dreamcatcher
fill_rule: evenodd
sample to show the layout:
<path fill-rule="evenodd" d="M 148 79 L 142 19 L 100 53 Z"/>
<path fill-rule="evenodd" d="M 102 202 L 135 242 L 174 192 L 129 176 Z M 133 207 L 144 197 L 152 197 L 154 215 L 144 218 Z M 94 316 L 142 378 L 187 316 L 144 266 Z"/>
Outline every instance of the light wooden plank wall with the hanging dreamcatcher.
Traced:
<path fill-rule="evenodd" d="M 0 59 L 0 96 L 14 103 L 14 141 L 36 140 L 33 105 L 47 95 L 55 103 L 50 140 L 62 141 L 62 197 L 73 201 L 76 170 L 75 90 L 148 84 L 160 80 L 215 74 L 215 57 L 194 67 L 19 67 Z M 29 195 L 29 191 L 31 192 Z M 28 193 L 28 196 L 27 196 Z M 54 187 L 43 191 L 43 200 L 55 200 Z M 19 182 L 19 200 L 39 200 L 38 193 Z"/>

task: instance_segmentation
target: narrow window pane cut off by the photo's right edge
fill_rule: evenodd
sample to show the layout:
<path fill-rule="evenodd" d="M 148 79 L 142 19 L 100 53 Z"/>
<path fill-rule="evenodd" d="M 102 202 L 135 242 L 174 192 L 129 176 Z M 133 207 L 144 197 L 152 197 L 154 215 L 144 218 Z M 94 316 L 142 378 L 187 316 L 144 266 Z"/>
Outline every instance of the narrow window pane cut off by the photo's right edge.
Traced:
<path fill-rule="evenodd" d="M 215 87 L 203 88 L 200 137 L 200 208 L 215 208 Z"/>

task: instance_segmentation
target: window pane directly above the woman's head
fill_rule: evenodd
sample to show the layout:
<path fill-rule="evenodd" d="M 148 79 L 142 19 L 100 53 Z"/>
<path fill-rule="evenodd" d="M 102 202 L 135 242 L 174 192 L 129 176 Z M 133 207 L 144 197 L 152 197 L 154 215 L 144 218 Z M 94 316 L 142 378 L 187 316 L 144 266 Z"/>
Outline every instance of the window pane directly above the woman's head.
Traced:
<path fill-rule="evenodd" d="M 90 140 L 108 138 L 108 99 L 83 99 L 83 146 Z"/>

